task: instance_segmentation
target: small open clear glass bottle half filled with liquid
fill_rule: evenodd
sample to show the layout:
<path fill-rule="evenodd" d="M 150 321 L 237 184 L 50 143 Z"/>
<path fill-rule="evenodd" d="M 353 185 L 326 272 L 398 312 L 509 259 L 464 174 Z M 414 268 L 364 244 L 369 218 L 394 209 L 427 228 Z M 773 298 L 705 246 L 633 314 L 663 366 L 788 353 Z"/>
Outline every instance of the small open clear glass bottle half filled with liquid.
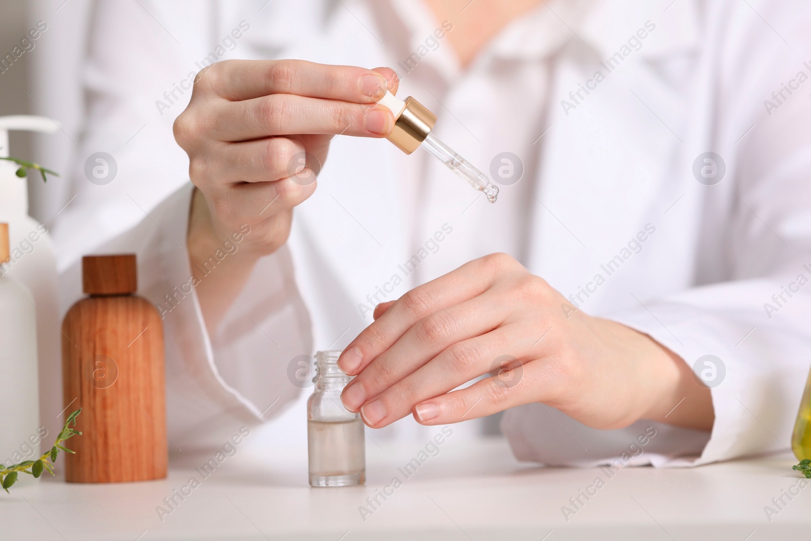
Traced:
<path fill-rule="evenodd" d="M 341 402 L 341 391 L 351 377 L 338 368 L 340 354 L 315 354 L 315 389 L 307 401 L 311 487 L 349 487 L 366 481 L 363 421 Z"/>

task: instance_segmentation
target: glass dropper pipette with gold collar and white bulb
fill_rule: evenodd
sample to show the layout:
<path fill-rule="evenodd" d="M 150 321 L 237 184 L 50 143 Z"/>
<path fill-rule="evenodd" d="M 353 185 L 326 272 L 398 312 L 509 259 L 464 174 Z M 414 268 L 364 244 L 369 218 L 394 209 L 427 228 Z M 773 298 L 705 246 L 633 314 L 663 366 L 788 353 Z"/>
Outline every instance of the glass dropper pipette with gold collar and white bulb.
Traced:
<path fill-rule="evenodd" d="M 487 195 L 488 201 L 496 203 L 499 195 L 498 187 L 470 161 L 453 152 L 452 148 L 431 133 L 436 123 L 435 114 L 413 97 L 407 97 L 405 101 L 402 101 L 394 97 L 391 92 L 386 92 L 378 103 L 388 107 L 395 118 L 392 134 L 388 135 L 389 141 L 396 144 L 406 154 L 410 154 L 422 146 L 433 157 L 447 165 L 449 170 L 464 178 L 470 186 Z"/>

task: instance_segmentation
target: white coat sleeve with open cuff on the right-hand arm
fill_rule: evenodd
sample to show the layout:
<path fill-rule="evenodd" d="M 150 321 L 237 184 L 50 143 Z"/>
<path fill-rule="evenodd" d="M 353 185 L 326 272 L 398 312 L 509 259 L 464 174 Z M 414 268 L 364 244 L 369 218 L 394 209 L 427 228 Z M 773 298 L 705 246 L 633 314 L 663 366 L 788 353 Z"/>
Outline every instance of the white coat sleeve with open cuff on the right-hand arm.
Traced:
<path fill-rule="evenodd" d="M 765 16 L 783 19 L 781 28 L 796 26 L 777 7 Z M 684 223 L 696 231 L 693 287 L 607 315 L 693 368 L 711 389 L 712 431 L 646 420 L 597 431 L 534 404 L 509 411 L 502 423 L 519 459 L 697 466 L 791 451 L 811 350 L 811 104 L 807 92 L 780 92 L 807 81 L 811 66 L 799 54 L 784 54 L 768 32 L 732 32 L 704 61 L 718 66 L 710 92 L 718 101 L 703 127 L 706 148 L 725 160 L 726 185 L 706 187 L 717 190 L 707 191 L 703 215 Z M 807 41 L 803 31 L 784 32 Z M 757 46 L 746 45 L 752 42 Z M 691 164 L 680 167 L 689 171 Z M 723 243 L 706 240 L 715 237 L 702 235 L 710 228 L 724 231 Z"/>

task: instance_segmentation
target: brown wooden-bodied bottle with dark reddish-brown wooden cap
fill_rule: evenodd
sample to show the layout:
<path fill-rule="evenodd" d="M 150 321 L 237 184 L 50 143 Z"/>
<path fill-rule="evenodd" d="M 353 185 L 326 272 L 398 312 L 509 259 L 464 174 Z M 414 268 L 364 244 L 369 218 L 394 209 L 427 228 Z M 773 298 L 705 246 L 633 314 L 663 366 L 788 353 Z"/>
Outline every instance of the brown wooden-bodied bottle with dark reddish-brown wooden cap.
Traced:
<path fill-rule="evenodd" d="M 135 255 L 82 259 L 83 298 L 62 321 L 66 411 L 82 409 L 64 453 L 72 483 L 120 483 L 166 476 L 161 316 L 135 295 Z"/>

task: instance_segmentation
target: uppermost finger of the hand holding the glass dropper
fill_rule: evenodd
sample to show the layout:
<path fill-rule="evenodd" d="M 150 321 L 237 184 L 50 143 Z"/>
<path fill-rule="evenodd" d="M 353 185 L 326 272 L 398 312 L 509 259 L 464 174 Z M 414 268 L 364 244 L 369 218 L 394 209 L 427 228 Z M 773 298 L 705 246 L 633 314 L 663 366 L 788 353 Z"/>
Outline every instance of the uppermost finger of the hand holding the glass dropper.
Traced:
<path fill-rule="evenodd" d="M 395 92 L 397 75 L 388 68 L 333 66 L 306 60 L 226 60 L 195 78 L 219 96 L 250 100 L 268 94 L 296 94 L 354 103 L 373 103 Z"/>

